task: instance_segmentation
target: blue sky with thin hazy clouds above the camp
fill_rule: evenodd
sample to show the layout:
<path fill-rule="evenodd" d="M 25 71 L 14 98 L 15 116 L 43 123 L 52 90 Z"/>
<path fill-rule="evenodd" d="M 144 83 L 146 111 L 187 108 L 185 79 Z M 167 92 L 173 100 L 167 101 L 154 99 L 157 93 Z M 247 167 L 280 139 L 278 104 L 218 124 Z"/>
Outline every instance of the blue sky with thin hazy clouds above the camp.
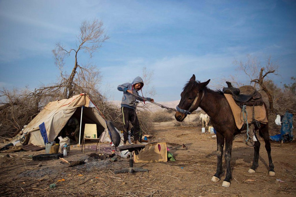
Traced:
<path fill-rule="evenodd" d="M 99 90 L 109 100 L 121 100 L 117 86 L 141 76 L 143 67 L 154 73 L 156 102 L 179 100 L 192 74 L 211 79 L 210 87 L 229 75 L 249 83 L 233 64 L 248 54 L 279 64 L 280 75 L 270 78 L 279 87 L 296 77 L 296 1 L 0 0 L 0 88 L 55 82 L 55 43 L 74 47 L 81 22 L 93 18 L 110 39 L 91 59 L 79 54 L 78 63 L 100 69 Z M 74 54 L 65 70 L 73 66 Z"/>

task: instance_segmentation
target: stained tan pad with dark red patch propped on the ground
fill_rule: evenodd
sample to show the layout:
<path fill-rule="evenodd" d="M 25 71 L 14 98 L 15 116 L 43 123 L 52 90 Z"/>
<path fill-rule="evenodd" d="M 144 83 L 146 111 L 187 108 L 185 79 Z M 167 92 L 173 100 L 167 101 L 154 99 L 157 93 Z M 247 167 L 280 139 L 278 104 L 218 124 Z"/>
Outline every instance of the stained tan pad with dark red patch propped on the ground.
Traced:
<path fill-rule="evenodd" d="M 165 142 L 147 144 L 145 148 L 139 151 L 138 155 L 133 155 L 135 163 L 146 162 L 167 162 L 167 146 Z"/>

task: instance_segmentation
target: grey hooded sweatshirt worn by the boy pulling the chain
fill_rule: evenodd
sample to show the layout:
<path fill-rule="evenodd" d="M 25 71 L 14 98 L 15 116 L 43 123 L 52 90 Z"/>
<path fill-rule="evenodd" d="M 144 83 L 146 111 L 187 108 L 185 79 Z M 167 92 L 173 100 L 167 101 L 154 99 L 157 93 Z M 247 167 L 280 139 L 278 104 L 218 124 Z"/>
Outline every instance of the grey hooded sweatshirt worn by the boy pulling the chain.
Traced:
<path fill-rule="evenodd" d="M 134 87 L 135 84 L 137 83 L 141 83 L 141 88 L 140 89 L 136 89 Z M 122 97 L 122 101 L 121 101 L 121 107 L 127 107 L 127 108 L 131 108 L 131 109 L 135 109 L 136 108 L 136 100 L 139 101 L 144 101 L 142 97 L 139 96 L 138 91 L 142 89 L 142 87 L 144 86 L 144 82 L 143 79 L 139 76 L 137 76 L 132 83 L 125 83 L 125 84 L 121 84 L 117 87 L 117 89 L 119 91 L 123 92 L 123 97 Z M 133 94 L 137 95 L 134 96 L 131 93 L 127 92 L 127 90 L 132 90 Z M 144 97 L 144 99 L 146 100 L 151 100 L 151 98 L 149 97 Z"/>

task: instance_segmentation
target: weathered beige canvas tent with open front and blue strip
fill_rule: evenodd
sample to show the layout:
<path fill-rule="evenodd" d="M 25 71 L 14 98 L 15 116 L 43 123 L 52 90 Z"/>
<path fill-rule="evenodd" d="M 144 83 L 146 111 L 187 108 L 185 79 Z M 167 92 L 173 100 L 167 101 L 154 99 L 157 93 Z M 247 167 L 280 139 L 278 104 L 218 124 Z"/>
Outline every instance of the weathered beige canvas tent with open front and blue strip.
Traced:
<path fill-rule="evenodd" d="M 23 133 L 30 133 L 29 144 L 44 147 L 47 141 L 56 139 L 72 116 L 80 122 L 81 139 L 84 126 L 89 123 L 96 124 L 97 136 L 100 136 L 101 142 L 111 141 L 104 116 L 85 93 L 75 95 L 70 99 L 49 102 L 26 126 Z"/>

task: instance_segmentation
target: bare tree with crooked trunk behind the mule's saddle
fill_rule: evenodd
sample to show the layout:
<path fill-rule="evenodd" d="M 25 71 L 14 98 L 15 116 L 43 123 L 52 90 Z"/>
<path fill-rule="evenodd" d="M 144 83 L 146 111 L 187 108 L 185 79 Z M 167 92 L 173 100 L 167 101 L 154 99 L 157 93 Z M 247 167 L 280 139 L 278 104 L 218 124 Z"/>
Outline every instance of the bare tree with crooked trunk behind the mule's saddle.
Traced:
<path fill-rule="evenodd" d="M 267 58 L 265 66 L 263 66 L 261 65 L 261 62 L 258 60 L 257 57 L 248 55 L 246 62 L 234 61 L 234 64 L 238 65 L 238 68 L 244 71 L 247 76 L 249 76 L 250 85 L 253 85 L 256 88 L 256 85 L 258 84 L 261 90 L 266 93 L 266 95 L 268 96 L 269 109 L 274 112 L 275 109 L 273 105 L 273 96 L 264 82 L 266 81 L 265 78 L 268 78 L 270 74 L 278 75 L 279 65 L 277 64 L 277 62 L 273 61 L 271 59 L 271 56 L 269 56 Z"/>

